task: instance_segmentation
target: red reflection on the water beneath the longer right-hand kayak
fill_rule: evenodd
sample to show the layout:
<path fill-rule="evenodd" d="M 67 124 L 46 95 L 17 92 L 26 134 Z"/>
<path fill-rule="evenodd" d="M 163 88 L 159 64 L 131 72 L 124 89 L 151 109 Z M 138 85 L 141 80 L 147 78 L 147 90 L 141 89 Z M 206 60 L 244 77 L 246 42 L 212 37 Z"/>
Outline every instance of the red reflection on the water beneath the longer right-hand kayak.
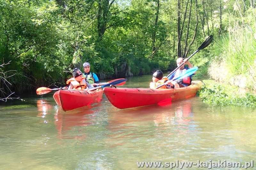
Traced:
<path fill-rule="evenodd" d="M 188 124 L 193 120 L 192 101 L 181 100 L 165 106 L 151 105 L 125 110 L 114 110 L 109 114 L 109 128 L 135 122 L 154 122 L 156 126 Z"/>

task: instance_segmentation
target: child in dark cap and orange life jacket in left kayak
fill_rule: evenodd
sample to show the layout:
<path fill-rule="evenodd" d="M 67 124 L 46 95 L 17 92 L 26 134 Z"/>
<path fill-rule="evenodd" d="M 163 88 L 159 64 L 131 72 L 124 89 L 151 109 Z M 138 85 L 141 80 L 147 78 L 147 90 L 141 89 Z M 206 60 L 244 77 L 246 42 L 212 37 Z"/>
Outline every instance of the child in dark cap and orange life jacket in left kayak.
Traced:
<path fill-rule="evenodd" d="M 78 69 L 74 68 L 73 78 L 68 79 L 68 89 L 76 89 L 76 90 L 87 90 L 93 88 L 88 82 L 85 81 L 83 77 L 83 73 Z"/>

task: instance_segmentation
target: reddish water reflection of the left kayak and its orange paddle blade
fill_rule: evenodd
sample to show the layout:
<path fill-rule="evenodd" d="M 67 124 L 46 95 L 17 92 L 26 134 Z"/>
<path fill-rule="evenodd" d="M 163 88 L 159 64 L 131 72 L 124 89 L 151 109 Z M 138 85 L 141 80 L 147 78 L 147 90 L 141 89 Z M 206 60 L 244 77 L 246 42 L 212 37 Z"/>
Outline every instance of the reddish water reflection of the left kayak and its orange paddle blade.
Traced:
<path fill-rule="evenodd" d="M 61 110 L 58 106 L 54 107 L 44 99 L 37 100 L 36 105 L 38 110 L 37 117 L 43 118 L 40 122 L 54 122 L 58 138 L 84 139 L 86 135 L 83 129 L 77 127 L 85 127 L 92 124 L 92 119 L 89 115 L 94 113 L 93 108 L 99 107 L 101 104 L 84 106 L 68 112 Z M 50 115 L 53 115 L 53 117 Z"/>

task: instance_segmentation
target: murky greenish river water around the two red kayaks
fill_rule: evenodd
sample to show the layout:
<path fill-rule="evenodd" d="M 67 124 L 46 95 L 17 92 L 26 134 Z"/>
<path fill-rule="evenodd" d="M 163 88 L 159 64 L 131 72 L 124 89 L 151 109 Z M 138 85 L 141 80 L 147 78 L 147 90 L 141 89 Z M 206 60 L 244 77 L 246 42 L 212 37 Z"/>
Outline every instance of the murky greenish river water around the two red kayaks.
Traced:
<path fill-rule="evenodd" d="M 148 87 L 150 79 L 132 77 L 124 87 Z M 120 110 L 103 95 L 101 103 L 64 112 L 52 95 L 0 106 L 0 169 L 137 169 L 139 161 L 256 161 L 253 108 L 213 107 L 192 97 L 164 107 Z"/>

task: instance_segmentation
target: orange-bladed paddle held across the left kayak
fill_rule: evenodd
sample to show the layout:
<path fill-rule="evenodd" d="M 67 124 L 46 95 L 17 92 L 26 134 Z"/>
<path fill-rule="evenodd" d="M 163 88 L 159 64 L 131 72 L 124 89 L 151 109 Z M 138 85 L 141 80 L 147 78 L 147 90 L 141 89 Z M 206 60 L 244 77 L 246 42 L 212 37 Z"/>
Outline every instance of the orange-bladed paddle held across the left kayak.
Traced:
<path fill-rule="evenodd" d="M 127 79 L 124 79 L 124 78 L 121 78 L 121 79 L 115 79 L 115 80 L 111 80 L 111 81 L 108 81 L 106 84 L 108 83 L 113 83 L 113 85 L 123 85 L 125 84 L 125 81 L 127 81 Z M 106 85 L 105 84 L 105 85 Z M 109 84 L 110 86 L 111 84 Z M 99 86 L 100 87 L 100 86 Z M 107 87 L 107 86 L 106 86 Z M 99 88 L 97 88 L 99 89 Z M 56 91 L 56 90 L 63 90 L 63 88 L 56 88 L 56 89 L 50 89 L 50 88 L 47 88 L 47 87 L 40 87 L 38 89 L 36 89 L 36 94 L 37 95 L 44 95 L 46 93 L 49 93 L 51 91 Z M 72 90 L 75 90 L 75 89 L 72 89 Z M 92 90 L 88 90 L 88 91 L 92 91 Z"/>

